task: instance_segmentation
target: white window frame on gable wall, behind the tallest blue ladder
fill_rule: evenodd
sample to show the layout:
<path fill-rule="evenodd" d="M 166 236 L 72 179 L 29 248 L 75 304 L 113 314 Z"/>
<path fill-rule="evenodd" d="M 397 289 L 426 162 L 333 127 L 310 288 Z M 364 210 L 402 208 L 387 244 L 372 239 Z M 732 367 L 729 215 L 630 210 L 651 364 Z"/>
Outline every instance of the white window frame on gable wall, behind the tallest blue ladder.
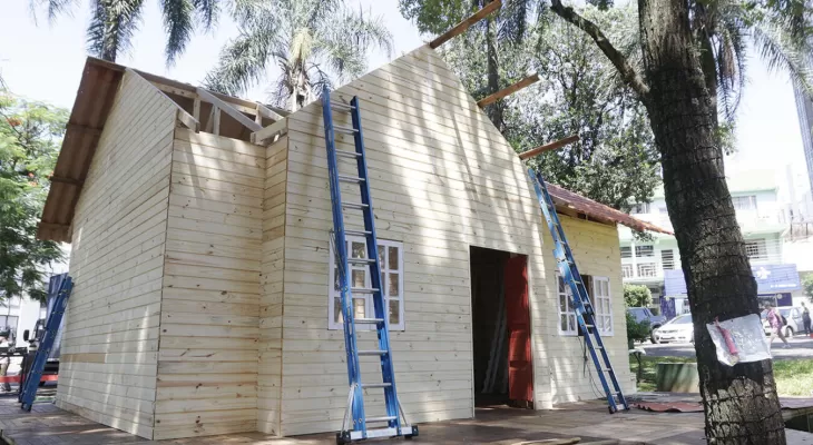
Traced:
<path fill-rule="evenodd" d="M 364 237 L 354 237 L 354 236 L 347 236 L 345 237 L 347 241 L 347 255 L 352 255 L 351 246 L 353 243 L 362 243 L 364 244 L 364 255 L 366 255 L 366 239 Z M 398 274 L 398 289 L 399 289 L 399 323 L 392 324 L 390 323 L 390 330 L 405 330 L 405 323 L 404 323 L 404 287 L 403 287 L 403 243 L 400 241 L 392 241 L 389 239 L 379 239 L 379 247 L 384 247 L 384 258 L 383 260 L 379 261 L 381 266 L 381 271 L 386 277 L 385 279 L 389 279 L 390 273 L 396 273 Z M 399 256 L 398 256 L 398 270 L 396 269 L 390 269 L 389 265 L 389 255 L 390 255 L 390 247 L 395 247 L 399 249 Z M 334 305 L 334 298 L 341 298 L 342 295 L 339 290 L 336 290 L 333 287 L 333 284 L 335 283 L 335 255 L 333 254 L 333 239 L 331 239 L 331 251 L 330 251 L 330 261 L 329 261 L 329 281 L 327 281 L 327 329 L 331 330 L 337 330 L 337 329 L 344 329 L 344 324 L 342 322 L 335 322 L 335 305 Z M 371 287 L 370 283 L 370 266 L 350 266 L 351 269 L 355 270 L 364 270 L 364 287 Z M 382 293 L 384 294 L 384 310 L 388 310 L 390 308 L 390 296 L 389 296 L 389 286 L 386 286 L 385 283 L 382 283 Z M 373 297 L 371 294 L 363 294 L 357 297 L 354 297 L 355 299 L 364 299 L 364 314 L 365 317 L 372 318 L 372 314 L 374 313 L 373 308 Z M 356 325 L 356 330 L 375 330 L 374 325 Z"/>

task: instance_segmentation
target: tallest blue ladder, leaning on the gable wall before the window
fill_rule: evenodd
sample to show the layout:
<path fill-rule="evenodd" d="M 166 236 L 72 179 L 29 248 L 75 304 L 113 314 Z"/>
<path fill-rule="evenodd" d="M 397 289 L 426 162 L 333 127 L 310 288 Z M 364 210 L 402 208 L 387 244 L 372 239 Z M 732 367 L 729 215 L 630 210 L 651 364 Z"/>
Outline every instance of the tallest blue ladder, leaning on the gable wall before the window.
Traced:
<path fill-rule="evenodd" d="M 368 180 L 366 157 L 364 155 L 364 136 L 361 128 L 359 98 L 354 97 L 350 105 L 331 101 L 327 88 L 322 92 L 322 108 L 324 115 L 325 141 L 327 146 L 327 169 L 330 172 L 331 201 L 333 207 L 333 248 L 336 259 L 336 269 L 341 290 L 342 316 L 344 320 L 344 346 L 347 353 L 347 377 L 350 390 L 347 406 L 342 422 L 342 429 L 336 434 L 337 444 L 347 444 L 372 437 L 404 436 L 411 438 L 418 435 L 418 427 L 409 425 L 401 409 L 395 390 L 395 370 L 392 366 L 392 350 L 390 349 L 390 320 L 388 306 L 381 288 L 381 265 L 379 264 L 378 241 L 375 237 L 375 217 L 370 196 Z M 351 127 L 333 123 L 333 112 L 350 112 L 353 122 Z M 335 132 L 353 135 L 355 151 L 337 150 Z M 354 159 L 356 175 L 341 175 L 339 172 L 339 157 Z M 341 182 L 359 185 L 360 202 L 342 200 Z M 344 210 L 361 211 L 364 218 L 364 230 L 345 230 Z M 346 236 L 359 236 L 366 240 L 365 258 L 349 258 Z M 352 287 L 350 265 L 369 267 L 370 288 Z M 372 295 L 375 315 L 373 318 L 356 318 L 353 315 L 353 295 Z M 356 325 L 373 325 L 378 330 L 379 345 L 376 349 L 361 350 L 357 348 Z M 361 382 L 359 356 L 379 356 L 381 358 L 382 383 L 364 384 Z M 364 389 L 383 389 L 386 414 L 384 416 L 368 417 L 364 413 Z M 370 424 L 378 426 L 371 428 Z"/>

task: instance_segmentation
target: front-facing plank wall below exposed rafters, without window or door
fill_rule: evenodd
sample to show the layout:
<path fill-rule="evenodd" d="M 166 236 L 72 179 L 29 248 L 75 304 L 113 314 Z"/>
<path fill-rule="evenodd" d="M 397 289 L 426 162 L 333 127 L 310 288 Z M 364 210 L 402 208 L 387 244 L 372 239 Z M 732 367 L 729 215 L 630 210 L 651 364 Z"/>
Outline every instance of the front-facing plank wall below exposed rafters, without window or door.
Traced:
<path fill-rule="evenodd" d="M 265 154 L 175 132 L 155 439 L 256 431 Z"/>

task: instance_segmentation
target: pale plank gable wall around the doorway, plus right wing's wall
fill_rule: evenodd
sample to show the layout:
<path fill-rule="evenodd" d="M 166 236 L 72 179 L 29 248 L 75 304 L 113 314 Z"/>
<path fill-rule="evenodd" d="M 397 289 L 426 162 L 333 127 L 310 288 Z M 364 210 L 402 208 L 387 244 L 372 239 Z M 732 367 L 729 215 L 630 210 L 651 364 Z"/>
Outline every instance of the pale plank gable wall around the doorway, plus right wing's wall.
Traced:
<path fill-rule="evenodd" d="M 424 47 L 332 97 L 356 95 L 378 236 L 404 248 L 405 330 L 391 339 L 410 422 L 473 415 L 470 246 L 529 256 L 536 406 L 597 398 L 595 373 L 582 373 L 580 340 L 558 334 L 550 236 L 523 166 L 454 75 Z M 350 126 L 345 113 L 334 119 Z M 339 429 L 347 384 L 343 333 L 327 330 L 332 219 L 321 106 L 287 120 L 278 432 L 296 435 Z M 336 142 L 353 149 L 350 136 L 337 134 Z M 354 162 L 340 164 L 353 171 Z M 357 187 L 343 185 L 342 192 L 357 200 Z M 616 228 L 562 219 L 582 273 L 610 277 L 617 335 L 607 343 L 629 389 Z M 345 224 L 362 227 L 360 215 Z M 360 348 L 373 342 L 373 333 L 360 333 Z M 376 363 L 362 358 L 363 380 L 380 382 Z M 368 414 L 383 414 L 381 390 L 368 393 Z"/>

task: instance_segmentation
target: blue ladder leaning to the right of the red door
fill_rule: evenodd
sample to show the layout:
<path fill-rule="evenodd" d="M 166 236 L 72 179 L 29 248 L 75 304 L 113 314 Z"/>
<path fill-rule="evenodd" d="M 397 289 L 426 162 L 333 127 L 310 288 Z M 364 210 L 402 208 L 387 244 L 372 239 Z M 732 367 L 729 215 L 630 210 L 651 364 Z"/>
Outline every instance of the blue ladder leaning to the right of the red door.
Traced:
<path fill-rule="evenodd" d="M 596 319 L 594 317 L 595 312 L 590 297 L 587 294 L 587 287 L 581 279 L 578 267 L 576 267 L 576 260 L 574 260 L 574 254 L 570 251 L 570 246 L 565 237 L 565 230 L 561 228 L 559 216 L 556 214 L 556 207 L 554 200 L 550 198 L 548 187 L 545 185 L 545 179 L 540 174 L 537 174 L 532 168 L 528 169 L 528 176 L 531 178 L 533 189 L 537 191 L 537 199 L 539 200 L 539 207 L 542 208 L 545 219 L 548 221 L 548 229 L 550 229 L 550 236 L 554 238 L 554 257 L 556 258 L 559 273 L 561 274 L 562 280 L 570 286 L 571 301 L 574 305 L 574 312 L 576 313 L 576 319 L 578 320 L 579 329 L 585 335 L 585 344 L 587 349 L 590 352 L 592 363 L 596 365 L 598 372 L 598 378 L 601 380 L 601 387 L 607 397 L 610 414 L 618 412 L 618 407 L 621 406 L 624 409 L 629 409 L 627 399 L 624 397 L 621 386 L 618 384 L 616 372 L 610 364 L 609 355 L 607 349 L 604 347 L 601 336 L 598 334 L 596 328 Z M 600 356 L 600 358 L 599 358 Z M 610 388 L 607 377 L 609 376 L 609 383 L 613 384 Z"/>

